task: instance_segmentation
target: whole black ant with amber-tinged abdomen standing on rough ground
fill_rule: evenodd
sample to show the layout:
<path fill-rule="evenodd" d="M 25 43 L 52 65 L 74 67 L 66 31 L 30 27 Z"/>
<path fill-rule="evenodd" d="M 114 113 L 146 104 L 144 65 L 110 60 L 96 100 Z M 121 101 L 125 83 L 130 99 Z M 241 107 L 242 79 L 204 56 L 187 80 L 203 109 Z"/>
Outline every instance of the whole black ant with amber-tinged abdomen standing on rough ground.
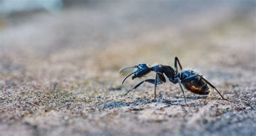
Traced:
<path fill-rule="evenodd" d="M 179 64 L 180 72 L 178 72 L 177 64 Z M 143 80 L 137 85 L 135 85 L 134 87 L 132 87 L 131 89 L 131 90 L 135 90 L 144 82 L 154 84 L 154 101 L 156 101 L 156 87 L 157 85 L 160 85 L 166 82 L 165 76 L 169 78 L 171 83 L 173 84 L 179 83 L 180 89 L 184 96 L 185 103 L 186 103 L 186 97 L 185 97 L 182 85 L 184 85 L 184 87 L 187 90 L 200 95 L 209 94 L 210 93 L 209 86 L 211 86 L 213 90 L 215 89 L 219 93 L 221 98 L 223 98 L 224 100 L 227 100 L 220 94 L 220 92 L 216 89 L 216 87 L 213 86 L 209 81 L 207 81 L 201 74 L 193 70 L 182 70 L 179 59 L 177 57 L 175 57 L 174 59 L 174 69 L 169 65 L 158 64 L 158 65 L 150 66 L 146 63 L 140 63 L 135 66 L 123 67 L 122 69 L 119 70 L 119 72 L 122 72 L 123 70 L 126 70 L 126 69 L 131 69 L 131 68 L 134 68 L 134 72 L 130 73 L 128 76 L 124 78 L 124 80 L 122 81 L 122 85 L 124 84 L 124 81 L 131 75 L 133 80 L 134 78 L 145 77 L 145 75 L 150 73 L 151 71 L 156 72 L 155 79 Z M 123 95 L 128 94 L 131 90 L 127 91 Z"/>

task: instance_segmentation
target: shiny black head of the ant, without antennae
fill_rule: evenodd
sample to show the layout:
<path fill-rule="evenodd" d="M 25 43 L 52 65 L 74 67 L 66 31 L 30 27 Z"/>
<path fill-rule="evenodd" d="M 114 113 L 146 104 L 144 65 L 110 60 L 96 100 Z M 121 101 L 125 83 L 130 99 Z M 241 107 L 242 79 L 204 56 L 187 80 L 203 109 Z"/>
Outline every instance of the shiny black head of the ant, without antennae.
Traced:
<path fill-rule="evenodd" d="M 151 66 L 146 63 L 140 63 L 135 66 L 132 79 L 144 77 L 146 74 L 151 72 Z"/>

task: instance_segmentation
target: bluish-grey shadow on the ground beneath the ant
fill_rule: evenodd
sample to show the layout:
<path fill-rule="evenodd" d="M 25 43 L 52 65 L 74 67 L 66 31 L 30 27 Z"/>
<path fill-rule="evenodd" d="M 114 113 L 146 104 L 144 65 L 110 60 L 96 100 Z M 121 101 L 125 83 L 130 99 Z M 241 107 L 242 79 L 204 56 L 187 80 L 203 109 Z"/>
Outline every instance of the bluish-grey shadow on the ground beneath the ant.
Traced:
<path fill-rule="evenodd" d="M 207 99 L 207 96 L 196 96 L 196 97 L 186 97 L 187 102 L 191 100 L 198 100 L 198 99 Z M 139 106 L 139 105 L 146 105 L 151 103 L 162 103 L 166 105 L 181 105 L 185 106 L 185 101 L 183 97 L 173 97 L 172 99 L 166 99 L 161 94 L 157 97 L 156 101 L 153 101 L 152 98 L 147 97 L 136 97 L 136 100 L 133 101 L 111 101 L 109 103 L 105 103 L 103 108 L 118 108 L 118 107 L 129 107 L 129 106 Z M 190 106 L 189 104 L 187 106 Z"/>

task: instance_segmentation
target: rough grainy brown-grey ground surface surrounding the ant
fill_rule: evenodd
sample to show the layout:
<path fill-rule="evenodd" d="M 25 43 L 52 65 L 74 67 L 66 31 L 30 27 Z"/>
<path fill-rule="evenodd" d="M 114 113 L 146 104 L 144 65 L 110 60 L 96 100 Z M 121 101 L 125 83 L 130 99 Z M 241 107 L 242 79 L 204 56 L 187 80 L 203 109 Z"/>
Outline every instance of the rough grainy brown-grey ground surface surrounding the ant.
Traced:
<path fill-rule="evenodd" d="M 0 135 L 255 135 L 255 2 L 97 3 L 1 20 Z M 203 5 L 208 5 L 207 8 Z M 171 7 L 171 8 L 170 8 Z M 196 68 L 217 92 L 120 82 L 140 62 Z M 154 77 L 150 74 L 149 77 Z"/>

